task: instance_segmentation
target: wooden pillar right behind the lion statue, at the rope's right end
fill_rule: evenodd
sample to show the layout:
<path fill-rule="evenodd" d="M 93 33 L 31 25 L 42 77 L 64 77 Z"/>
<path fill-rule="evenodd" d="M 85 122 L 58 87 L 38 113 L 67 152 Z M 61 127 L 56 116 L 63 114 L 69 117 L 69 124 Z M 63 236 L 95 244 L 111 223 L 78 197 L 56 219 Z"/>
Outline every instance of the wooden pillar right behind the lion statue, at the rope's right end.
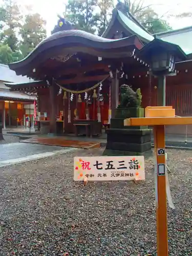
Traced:
<path fill-rule="evenodd" d="M 117 72 L 115 77 L 112 78 L 112 88 L 111 88 L 111 116 L 115 118 L 115 110 L 119 104 L 119 79 L 117 78 Z"/>

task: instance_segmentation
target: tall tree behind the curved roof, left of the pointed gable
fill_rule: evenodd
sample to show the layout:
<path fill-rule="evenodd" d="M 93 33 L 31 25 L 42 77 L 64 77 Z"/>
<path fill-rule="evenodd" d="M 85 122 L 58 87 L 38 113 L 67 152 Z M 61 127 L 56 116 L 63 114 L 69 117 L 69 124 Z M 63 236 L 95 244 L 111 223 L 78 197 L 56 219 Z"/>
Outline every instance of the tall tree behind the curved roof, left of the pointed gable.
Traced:
<path fill-rule="evenodd" d="M 95 8 L 95 0 L 86 0 L 83 2 L 69 0 L 65 17 L 74 25 L 75 29 L 95 33 L 97 25 L 97 16 L 93 14 Z"/>

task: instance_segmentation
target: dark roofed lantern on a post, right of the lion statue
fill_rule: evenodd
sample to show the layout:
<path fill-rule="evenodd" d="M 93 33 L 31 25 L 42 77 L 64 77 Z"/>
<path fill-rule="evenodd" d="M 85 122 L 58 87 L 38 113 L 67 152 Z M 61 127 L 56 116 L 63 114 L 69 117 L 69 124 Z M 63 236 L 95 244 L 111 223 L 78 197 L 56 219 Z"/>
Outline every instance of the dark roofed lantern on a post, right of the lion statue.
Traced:
<path fill-rule="evenodd" d="M 152 75 L 158 77 L 158 105 L 165 105 L 165 77 L 173 75 L 175 63 L 186 59 L 183 50 L 174 44 L 155 38 L 140 51 L 140 58 L 150 65 Z"/>

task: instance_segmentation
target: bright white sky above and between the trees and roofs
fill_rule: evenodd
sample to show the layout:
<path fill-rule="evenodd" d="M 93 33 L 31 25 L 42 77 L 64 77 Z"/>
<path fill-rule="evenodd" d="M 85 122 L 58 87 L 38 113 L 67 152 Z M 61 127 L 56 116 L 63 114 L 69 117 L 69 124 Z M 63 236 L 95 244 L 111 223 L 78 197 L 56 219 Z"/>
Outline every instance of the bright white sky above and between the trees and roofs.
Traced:
<path fill-rule="evenodd" d="M 1 2 L 2 0 L 0 0 Z M 123 0 L 121 0 L 123 2 Z M 168 17 L 168 14 L 178 14 L 182 12 L 192 12 L 192 3 L 190 0 L 143 0 L 145 5 L 153 3 L 153 9 L 163 16 L 164 19 L 173 27 L 173 29 L 180 29 L 183 27 L 192 26 L 191 18 L 174 18 Z M 57 23 L 57 13 L 62 14 L 65 10 L 67 0 L 17 0 L 20 5 L 32 5 L 33 11 L 38 12 L 44 19 L 47 20 L 47 31 L 53 29 Z M 117 0 L 114 0 L 116 5 Z"/>

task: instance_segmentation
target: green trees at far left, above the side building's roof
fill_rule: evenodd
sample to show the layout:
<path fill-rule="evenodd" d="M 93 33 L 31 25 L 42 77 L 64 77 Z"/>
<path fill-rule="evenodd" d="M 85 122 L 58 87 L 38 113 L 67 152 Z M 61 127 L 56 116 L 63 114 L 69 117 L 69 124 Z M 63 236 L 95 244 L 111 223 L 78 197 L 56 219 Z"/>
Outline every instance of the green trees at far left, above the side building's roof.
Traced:
<path fill-rule="evenodd" d="M 3 0 L 0 6 L 0 62 L 15 62 L 26 57 L 46 37 L 45 25 L 38 13 L 23 16 L 14 0 Z"/>

